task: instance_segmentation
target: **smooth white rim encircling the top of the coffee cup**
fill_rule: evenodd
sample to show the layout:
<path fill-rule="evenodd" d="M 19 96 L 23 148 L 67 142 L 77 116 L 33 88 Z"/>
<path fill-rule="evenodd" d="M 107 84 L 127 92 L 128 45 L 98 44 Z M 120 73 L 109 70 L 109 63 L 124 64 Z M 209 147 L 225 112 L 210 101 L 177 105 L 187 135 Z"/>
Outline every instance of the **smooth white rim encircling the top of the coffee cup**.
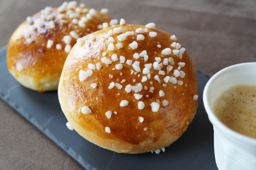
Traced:
<path fill-rule="evenodd" d="M 209 120 L 212 122 L 214 122 L 214 126 L 223 129 L 223 131 L 225 131 L 226 133 L 228 133 L 229 135 L 231 135 L 234 138 L 239 138 L 239 140 L 243 140 L 246 141 L 247 143 L 252 143 L 252 144 L 256 144 L 256 139 L 240 134 L 234 130 L 232 130 L 231 128 L 228 128 L 226 125 L 224 125 L 218 118 L 217 116 L 214 114 L 214 112 L 212 111 L 212 108 L 210 106 L 210 103 L 208 101 L 207 95 L 208 95 L 208 91 L 210 88 L 210 85 L 218 78 L 220 77 L 220 75 L 222 73 L 227 73 L 230 69 L 233 69 L 234 67 L 240 67 L 240 66 L 244 66 L 244 65 L 255 65 L 256 67 L 256 62 L 248 62 L 248 63 L 240 63 L 240 64 L 235 64 L 232 66 L 228 66 L 226 68 L 223 68 L 222 70 L 218 71 L 217 73 L 215 73 L 210 79 L 209 81 L 206 83 L 205 87 L 204 87 L 204 91 L 203 91 L 203 103 L 204 103 L 204 108 L 205 111 L 208 115 Z M 213 124 L 213 123 L 212 123 Z"/>

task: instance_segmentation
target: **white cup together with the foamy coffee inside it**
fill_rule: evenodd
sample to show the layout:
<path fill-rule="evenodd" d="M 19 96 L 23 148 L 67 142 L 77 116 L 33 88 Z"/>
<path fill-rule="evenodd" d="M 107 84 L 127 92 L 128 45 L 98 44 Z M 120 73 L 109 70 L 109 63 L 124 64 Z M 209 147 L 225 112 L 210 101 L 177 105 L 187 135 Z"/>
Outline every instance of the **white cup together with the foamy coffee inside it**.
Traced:
<path fill-rule="evenodd" d="M 247 92 L 244 85 L 247 86 L 246 88 L 249 87 L 249 95 L 246 95 Z M 255 119 L 255 105 L 254 111 L 252 111 L 253 114 L 249 114 L 249 116 L 244 116 L 245 111 L 244 109 L 241 109 L 246 108 L 245 110 L 248 110 L 248 104 L 246 103 L 249 103 L 249 105 L 256 103 L 256 97 L 254 97 L 254 95 L 256 95 L 255 86 L 256 62 L 241 63 L 226 67 L 214 74 L 205 85 L 203 93 L 204 108 L 214 129 L 214 154 L 219 170 L 255 170 L 256 138 L 249 137 L 253 135 L 253 133 L 248 133 L 249 135 L 246 133 L 246 135 L 243 135 L 245 131 L 244 129 L 239 133 L 235 129 L 240 126 L 239 123 L 237 123 L 240 120 L 243 120 L 240 127 L 244 128 L 244 126 L 249 127 L 250 123 L 248 122 Z M 236 95 L 235 92 L 237 93 Z M 225 93 L 228 95 L 226 96 Z M 223 96 L 225 97 L 223 98 Z M 238 99 L 236 99 L 235 96 L 238 96 Z M 245 100 L 240 98 L 242 96 L 245 96 L 247 99 Z M 229 99 L 231 99 L 231 101 L 234 99 L 235 103 L 227 104 L 229 103 Z M 218 115 L 214 109 L 215 101 L 219 102 L 219 104 L 215 104 L 215 108 L 220 109 L 221 107 L 225 106 L 224 109 L 220 111 L 220 115 Z M 240 102 L 245 104 L 245 106 L 241 106 L 241 104 L 239 104 Z M 231 109 L 233 110 L 228 113 L 228 111 Z M 235 113 L 235 111 L 238 113 Z M 235 114 L 238 116 L 236 117 Z M 222 120 L 221 117 L 228 117 L 228 120 Z M 232 120 L 230 117 L 232 117 L 234 120 Z M 229 127 L 229 124 L 235 128 L 232 126 Z M 255 123 L 253 125 L 255 132 L 256 125 Z"/>

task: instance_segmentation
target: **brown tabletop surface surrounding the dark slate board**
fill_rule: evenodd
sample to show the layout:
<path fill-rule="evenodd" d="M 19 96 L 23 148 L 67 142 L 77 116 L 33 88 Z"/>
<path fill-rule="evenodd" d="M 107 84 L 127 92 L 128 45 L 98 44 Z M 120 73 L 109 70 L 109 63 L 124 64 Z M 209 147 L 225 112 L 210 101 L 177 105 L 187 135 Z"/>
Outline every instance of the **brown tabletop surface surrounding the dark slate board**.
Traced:
<path fill-rule="evenodd" d="M 197 70 L 212 76 L 220 69 L 256 61 L 254 0 L 81 0 L 108 8 L 113 18 L 156 27 L 180 39 Z M 1 0 L 0 47 L 18 25 L 61 0 Z M 0 75 L 1 76 L 1 75 Z M 83 169 L 73 158 L 0 99 L 0 169 Z"/>

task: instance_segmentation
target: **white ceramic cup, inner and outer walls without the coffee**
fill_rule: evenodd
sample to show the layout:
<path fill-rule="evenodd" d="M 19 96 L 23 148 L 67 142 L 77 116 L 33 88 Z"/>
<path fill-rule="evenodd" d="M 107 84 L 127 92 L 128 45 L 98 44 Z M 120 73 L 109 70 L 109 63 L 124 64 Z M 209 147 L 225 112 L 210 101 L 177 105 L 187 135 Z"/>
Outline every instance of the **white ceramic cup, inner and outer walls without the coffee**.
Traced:
<path fill-rule="evenodd" d="M 256 139 L 228 128 L 212 111 L 220 93 L 238 84 L 256 85 L 256 62 L 224 68 L 204 88 L 204 108 L 214 129 L 214 154 L 219 170 L 256 170 Z"/>

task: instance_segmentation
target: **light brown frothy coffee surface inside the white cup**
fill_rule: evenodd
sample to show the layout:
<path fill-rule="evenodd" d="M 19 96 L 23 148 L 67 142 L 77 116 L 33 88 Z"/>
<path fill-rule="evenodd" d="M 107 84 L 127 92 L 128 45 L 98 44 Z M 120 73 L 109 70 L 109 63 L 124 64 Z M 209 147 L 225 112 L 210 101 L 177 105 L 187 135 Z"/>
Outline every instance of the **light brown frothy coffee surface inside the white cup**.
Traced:
<path fill-rule="evenodd" d="M 229 128 L 256 138 L 256 85 L 236 85 L 215 99 L 213 112 Z"/>

